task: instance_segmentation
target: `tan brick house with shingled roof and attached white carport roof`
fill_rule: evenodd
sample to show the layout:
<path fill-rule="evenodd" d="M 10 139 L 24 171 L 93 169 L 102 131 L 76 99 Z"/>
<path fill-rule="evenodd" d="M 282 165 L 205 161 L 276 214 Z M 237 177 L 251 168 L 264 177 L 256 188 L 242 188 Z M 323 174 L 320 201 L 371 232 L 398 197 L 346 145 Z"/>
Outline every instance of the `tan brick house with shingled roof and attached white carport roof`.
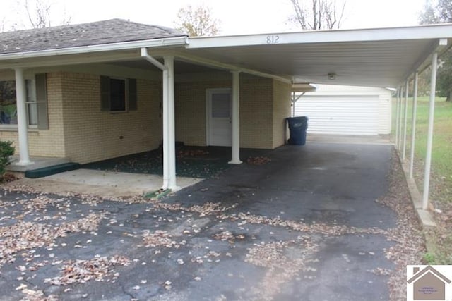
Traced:
<path fill-rule="evenodd" d="M 23 166 L 30 156 L 85 164 L 163 141 L 163 188 L 177 188 L 175 141 L 230 146 L 230 163 L 240 164 L 241 147 L 285 143 L 297 83 L 400 87 L 429 64 L 432 49 L 447 48 L 451 32 L 436 25 L 189 38 L 120 19 L 3 32 L 0 140 L 14 142 Z"/>

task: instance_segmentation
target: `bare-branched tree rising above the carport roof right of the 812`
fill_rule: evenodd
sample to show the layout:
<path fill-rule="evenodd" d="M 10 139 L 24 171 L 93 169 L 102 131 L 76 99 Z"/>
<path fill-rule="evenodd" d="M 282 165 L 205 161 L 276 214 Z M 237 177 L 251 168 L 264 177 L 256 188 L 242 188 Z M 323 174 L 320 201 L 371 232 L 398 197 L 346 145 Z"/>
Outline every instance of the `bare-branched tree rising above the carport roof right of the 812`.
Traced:
<path fill-rule="evenodd" d="M 295 16 L 290 18 L 302 30 L 337 29 L 343 20 L 346 0 L 290 0 Z"/>

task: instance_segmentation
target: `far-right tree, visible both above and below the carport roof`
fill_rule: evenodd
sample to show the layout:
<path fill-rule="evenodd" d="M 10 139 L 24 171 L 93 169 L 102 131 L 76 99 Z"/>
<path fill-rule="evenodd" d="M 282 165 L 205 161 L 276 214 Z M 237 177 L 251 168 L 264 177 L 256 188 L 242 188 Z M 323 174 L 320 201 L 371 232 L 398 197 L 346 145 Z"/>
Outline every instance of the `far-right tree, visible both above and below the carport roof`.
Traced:
<path fill-rule="evenodd" d="M 436 3 L 427 0 L 424 11 L 420 14 L 421 24 L 437 24 L 452 22 L 452 1 L 437 0 Z M 452 101 L 452 49 L 449 49 L 439 59 L 438 80 L 436 90 L 439 96 L 446 97 L 446 102 Z"/>

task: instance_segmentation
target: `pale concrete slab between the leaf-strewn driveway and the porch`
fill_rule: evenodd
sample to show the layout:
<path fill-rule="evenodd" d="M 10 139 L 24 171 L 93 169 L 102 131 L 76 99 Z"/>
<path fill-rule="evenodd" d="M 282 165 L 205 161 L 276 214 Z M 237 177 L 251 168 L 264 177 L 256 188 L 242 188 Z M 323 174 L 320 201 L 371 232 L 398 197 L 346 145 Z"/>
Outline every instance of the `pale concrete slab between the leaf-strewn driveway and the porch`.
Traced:
<path fill-rule="evenodd" d="M 177 183 L 180 188 L 186 188 L 201 180 L 178 177 Z M 53 193 L 76 192 L 102 197 L 127 197 L 158 190 L 162 181 L 162 177 L 156 175 L 78 169 L 39 179 L 23 178 L 11 185 L 27 185 Z"/>

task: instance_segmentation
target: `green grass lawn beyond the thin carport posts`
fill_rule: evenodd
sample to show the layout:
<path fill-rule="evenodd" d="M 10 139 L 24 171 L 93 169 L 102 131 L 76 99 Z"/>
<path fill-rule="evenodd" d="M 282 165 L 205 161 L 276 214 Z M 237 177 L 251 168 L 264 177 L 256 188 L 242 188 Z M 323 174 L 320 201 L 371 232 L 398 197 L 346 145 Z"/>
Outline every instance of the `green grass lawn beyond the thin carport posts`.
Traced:
<path fill-rule="evenodd" d="M 394 102 L 394 104 L 396 104 Z M 393 106 L 393 124 L 396 120 L 396 106 Z M 408 147 L 410 157 L 412 98 L 408 99 Z M 418 97 L 415 140 L 415 180 L 422 193 L 424 181 L 424 158 L 427 149 L 427 128 L 429 118 L 429 97 Z M 395 126 L 393 128 L 396 128 Z M 395 137 L 395 130 L 393 130 Z M 432 173 L 430 178 L 430 199 L 438 227 L 433 230 L 436 252 L 426 254 L 429 264 L 452 264 L 452 103 L 437 97 L 434 114 L 434 138 L 432 147 Z"/>

